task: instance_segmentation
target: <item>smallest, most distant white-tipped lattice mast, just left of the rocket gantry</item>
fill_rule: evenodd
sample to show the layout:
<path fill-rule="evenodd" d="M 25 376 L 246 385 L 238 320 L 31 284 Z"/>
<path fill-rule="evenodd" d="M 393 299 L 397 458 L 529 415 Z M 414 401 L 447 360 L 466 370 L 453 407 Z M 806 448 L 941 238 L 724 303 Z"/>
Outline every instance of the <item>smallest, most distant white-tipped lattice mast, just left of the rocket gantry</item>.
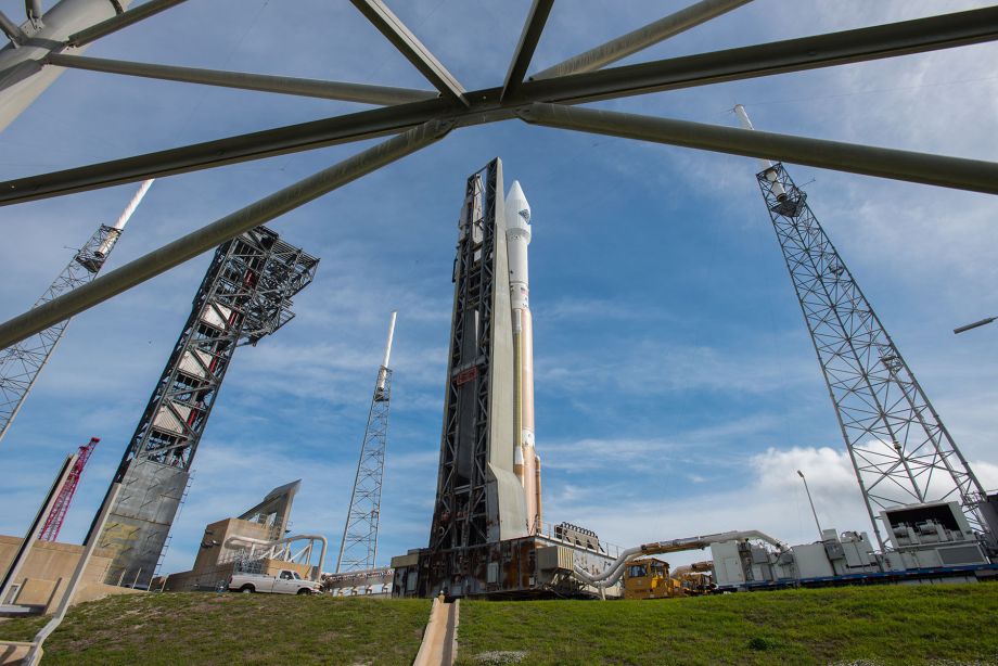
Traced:
<path fill-rule="evenodd" d="M 368 426 L 360 446 L 357 476 L 350 508 L 343 527 L 336 573 L 374 568 L 378 559 L 378 525 L 381 521 L 381 486 L 385 476 L 385 447 L 388 443 L 388 408 L 392 405 L 392 340 L 395 336 L 395 316 L 388 323 L 385 354 L 378 369 L 374 396 L 368 412 Z"/>

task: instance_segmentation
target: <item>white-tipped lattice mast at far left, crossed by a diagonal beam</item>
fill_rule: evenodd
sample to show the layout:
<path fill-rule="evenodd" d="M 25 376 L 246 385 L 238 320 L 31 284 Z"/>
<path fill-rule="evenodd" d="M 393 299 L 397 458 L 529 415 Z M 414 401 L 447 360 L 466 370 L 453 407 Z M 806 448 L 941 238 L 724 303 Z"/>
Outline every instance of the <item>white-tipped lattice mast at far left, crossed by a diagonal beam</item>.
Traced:
<path fill-rule="evenodd" d="M 104 267 L 104 261 L 125 230 L 125 225 L 149 191 L 152 180 L 144 181 L 131 202 L 113 226 L 101 225 L 87 244 L 77 252 L 65 269 L 49 285 L 34 307 L 48 303 L 81 284 L 93 280 Z M 44 331 L 0 351 L 0 440 L 21 411 L 38 374 L 62 340 L 69 320 L 65 319 Z"/>

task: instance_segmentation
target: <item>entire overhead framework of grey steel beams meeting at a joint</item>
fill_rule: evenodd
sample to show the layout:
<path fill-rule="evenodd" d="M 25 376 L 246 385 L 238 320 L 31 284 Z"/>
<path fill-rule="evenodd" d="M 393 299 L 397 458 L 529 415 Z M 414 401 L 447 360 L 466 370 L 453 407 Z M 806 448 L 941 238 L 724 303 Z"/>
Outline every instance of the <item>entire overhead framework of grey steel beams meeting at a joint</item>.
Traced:
<path fill-rule="evenodd" d="M 108 0 L 111 1 L 111 0 Z M 680 31 L 747 2 L 701 0 L 695 4 L 599 46 L 575 59 L 522 80 L 551 9 L 535 0 L 528 13 L 506 81 L 501 87 L 468 91 L 381 0 L 351 0 L 355 7 L 439 91 L 407 90 L 335 81 L 311 81 L 239 73 L 192 71 L 166 65 L 98 61 L 64 53 L 133 25 L 179 4 L 150 0 L 74 33 L 64 42 L 37 40 L 48 51 L 40 59 L 0 72 L 3 89 L 39 76 L 47 67 L 80 67 L 177 81 L 319 95 L 371 104 L 388 104 L 344 116 L 218 139 L 205 143 L 42 174 L 0 183 L 0 205 L 60 196 L 97 188 L 183 174 L 274 155 L 396 135 L 325 171 L 265 197 L 202 230 L 140 257 L 72 294 L 53 299 L 0 324 L 0 347 L 39 333 L 98 303 L 205 253 L 269 219 L 294 209 L 347 182 L 433 143 L 451 129 L 520 118 L 527 123 L 586 132 L 683 145 L 701 150 L 796 162 L 821 168 L 895 178 L 919 183 L 998 193 L 998 164 L 875 146 L 817 141 L 620 114 L 574 105 L 664 90 L 743 80 L 849 63 L 949 49 L 998 39 L 998 7 L 914 21 L 843 30 L 698 55 L 600 69 Z M 57 7 L 82 2 L 62 0 Z M 35 3 L 38 9 L 39 3 Z M 30 14 L 30 12 L 29 12 Z M 33 22 L 43 21 L 30 15 Z M 11 21 L 2 22 L 11 38 L 7 49 L 31 42 Z"/>

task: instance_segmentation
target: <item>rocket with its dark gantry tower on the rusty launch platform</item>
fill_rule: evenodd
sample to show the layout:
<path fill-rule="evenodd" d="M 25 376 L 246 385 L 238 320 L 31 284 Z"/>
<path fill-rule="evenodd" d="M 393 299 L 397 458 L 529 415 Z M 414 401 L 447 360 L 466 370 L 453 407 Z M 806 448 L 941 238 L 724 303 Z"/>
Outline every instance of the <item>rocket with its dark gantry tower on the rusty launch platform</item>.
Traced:
<path fill-rule="evenodd" d="M 393 558 L 396 595 L 571 594 L 573 566 L 611 560 L 597 538 L 541 534 L 529 219 L 519 183 L 503 196 L 498 158 L 468 179 L 430 547 Z"/>

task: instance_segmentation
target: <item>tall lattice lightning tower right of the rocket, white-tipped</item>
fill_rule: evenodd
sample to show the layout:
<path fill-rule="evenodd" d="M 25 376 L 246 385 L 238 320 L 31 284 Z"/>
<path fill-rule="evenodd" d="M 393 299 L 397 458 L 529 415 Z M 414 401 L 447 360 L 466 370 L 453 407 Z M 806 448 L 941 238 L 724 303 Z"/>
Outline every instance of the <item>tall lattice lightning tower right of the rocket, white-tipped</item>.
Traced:
<path fill-rule="evenodd" d="M 753 129 L 744 107 L 735 113 Z M 756 178 L 783 252 L 870 522 L 888 507 L 957 501 L 995 546 L 987 495 L 782 164 Z M 890 529 L 888 525 L 884 526 Z"/>

